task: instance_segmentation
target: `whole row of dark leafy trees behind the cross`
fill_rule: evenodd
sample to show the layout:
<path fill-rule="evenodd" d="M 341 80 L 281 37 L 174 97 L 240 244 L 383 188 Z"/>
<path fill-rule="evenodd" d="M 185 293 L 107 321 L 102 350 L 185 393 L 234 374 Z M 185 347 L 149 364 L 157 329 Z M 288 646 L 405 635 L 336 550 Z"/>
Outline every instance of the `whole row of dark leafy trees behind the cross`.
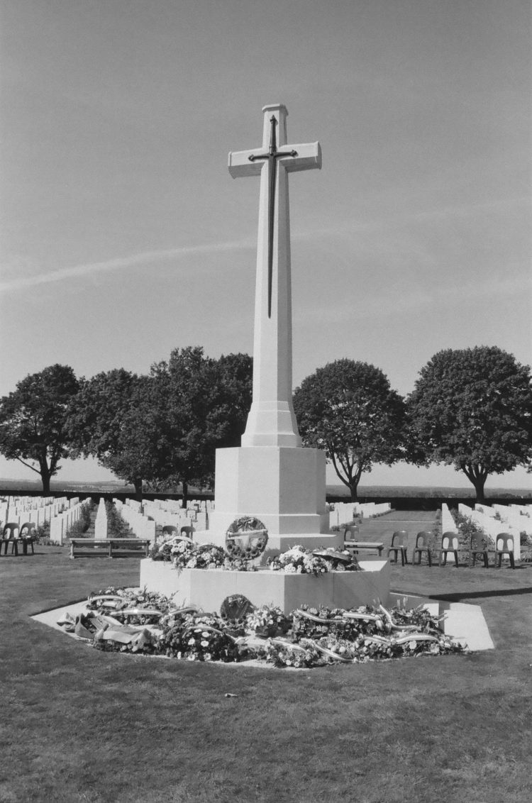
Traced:
<path fill-rule="evenodd" d="M 213 486 L 215 450 L 239 446 L 251 404 L 246 354 L 175 349 L 148 375 L 125 369 L 76 378 L 51 365 L 0 399 L 0 453 L 36 471 L 43 492 L 64 458 L 88 457 L 136 494 L 181 484 Z M 341 359 L 294 391 L 305 446 L 325 450 L 357 498 L 375 463 L 445 463 L 475 487 L 491 474 L 532 465 L 530 367 L 496 346 L 445 349 L 420 370 L 406 398 L 376 366 Z"/>

